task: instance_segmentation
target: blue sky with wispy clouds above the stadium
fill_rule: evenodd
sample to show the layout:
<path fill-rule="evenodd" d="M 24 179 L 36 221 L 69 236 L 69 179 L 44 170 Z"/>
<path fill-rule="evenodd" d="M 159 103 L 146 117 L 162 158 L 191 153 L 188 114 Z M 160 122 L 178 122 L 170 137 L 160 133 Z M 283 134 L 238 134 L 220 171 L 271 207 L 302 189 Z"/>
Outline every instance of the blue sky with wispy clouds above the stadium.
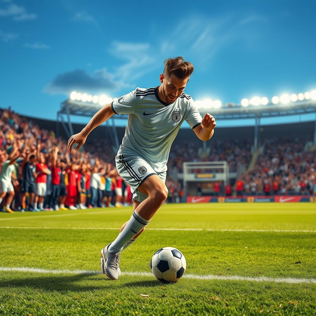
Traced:
<path fill-rule="evenodd" d="M 1 107 L 55 119 L 69 92 L 119 97 L 195 65 L 193 99 L 316 88 L 315 1 L 0 0 Z"/>

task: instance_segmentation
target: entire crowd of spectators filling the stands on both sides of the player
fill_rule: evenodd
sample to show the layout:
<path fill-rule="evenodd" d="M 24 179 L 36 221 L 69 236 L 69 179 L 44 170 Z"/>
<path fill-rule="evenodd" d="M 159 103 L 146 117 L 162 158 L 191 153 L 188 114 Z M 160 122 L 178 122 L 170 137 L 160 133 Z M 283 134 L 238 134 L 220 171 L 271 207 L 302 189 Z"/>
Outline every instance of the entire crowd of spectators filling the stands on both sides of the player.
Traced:
<path fill-rule="evenodd" d="M 58 210 L 120 207 L 131 204 L 130 186 L 119 176 L 115 153 L 106 140 L 89 139 L 84 149 L 69 154 L 67 143 L 53 131 L 40 129 L 10 108 L 0 110 L 0 209 Z M 229 172 L 244 172 L 231 185 L 213 182 L 214 195 L 312 195 L 316 191 L 316 155 L 308 137 L 275 137 L 263 142 L 254 168 L 245 172 L 252 154 L 248 140 L 174 143 L 169 172 L 181 173 L 183 162 L 227 161 Z M 182 201 L 177 177 L 166 180 L 167 202 Z M 201 186 L 197 184 L 197 194 Z"/>

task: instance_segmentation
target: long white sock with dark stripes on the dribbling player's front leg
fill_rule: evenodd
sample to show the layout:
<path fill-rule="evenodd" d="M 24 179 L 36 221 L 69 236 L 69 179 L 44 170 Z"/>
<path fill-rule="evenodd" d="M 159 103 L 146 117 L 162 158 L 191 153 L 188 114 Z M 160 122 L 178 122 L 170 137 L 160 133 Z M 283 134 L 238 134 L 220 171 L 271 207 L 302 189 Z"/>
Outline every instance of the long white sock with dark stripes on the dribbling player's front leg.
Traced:
<path fill-rule="evenodd" d="M 116 239 L 108 247 L 109 252 L 121 252 L 124 246 L 131 241 L 149 221 L 140 216 L 136 210 L 133 212 L 130 220 L 127 222 L 123 230 L 119 233 Z"/>

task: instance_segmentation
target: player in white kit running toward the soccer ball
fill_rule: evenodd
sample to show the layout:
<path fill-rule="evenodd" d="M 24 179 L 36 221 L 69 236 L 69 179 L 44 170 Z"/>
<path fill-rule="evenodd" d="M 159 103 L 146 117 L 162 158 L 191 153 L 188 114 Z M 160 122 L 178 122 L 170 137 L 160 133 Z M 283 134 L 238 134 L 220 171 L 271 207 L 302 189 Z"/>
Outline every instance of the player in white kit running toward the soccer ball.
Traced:
<path fill-rule="evenodd" d="M 160 86 L 136 88 L 104 106 L 68 141 L 69 152 L 76 143 L 78 150 L 89 133 L 114 113 L 129 114 L 115 161 L 119 175 L 131 186 L 134 207 L 118 237 L 101 250 L 101 270 L 110 279 L 116 280 L 121 274 L 119 255 L 123 248 L 135 240 L 168 196 L 167 161 L 181 124 L 186 120 L 203 141 L 213 136 L 213 116 L 206 113 L 202 119 L 191 96 L 183 92 L 193 70 L 193 65 L 183 57 L 167 59 L 160 74 Z"/>

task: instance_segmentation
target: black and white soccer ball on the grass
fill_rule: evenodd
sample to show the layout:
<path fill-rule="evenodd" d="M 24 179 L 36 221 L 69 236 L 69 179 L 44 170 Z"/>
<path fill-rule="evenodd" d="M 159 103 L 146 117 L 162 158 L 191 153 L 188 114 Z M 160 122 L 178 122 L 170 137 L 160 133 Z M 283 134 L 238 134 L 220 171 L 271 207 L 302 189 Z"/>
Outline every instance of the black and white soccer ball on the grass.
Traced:
<path fill-rule="evenodd" d="M 156 251 L 151 258 L 150 268 L 159 281 L 178 281 L 183 276 L 186 261 L 181 251 L 173 247 L 164 247 Z"/>

